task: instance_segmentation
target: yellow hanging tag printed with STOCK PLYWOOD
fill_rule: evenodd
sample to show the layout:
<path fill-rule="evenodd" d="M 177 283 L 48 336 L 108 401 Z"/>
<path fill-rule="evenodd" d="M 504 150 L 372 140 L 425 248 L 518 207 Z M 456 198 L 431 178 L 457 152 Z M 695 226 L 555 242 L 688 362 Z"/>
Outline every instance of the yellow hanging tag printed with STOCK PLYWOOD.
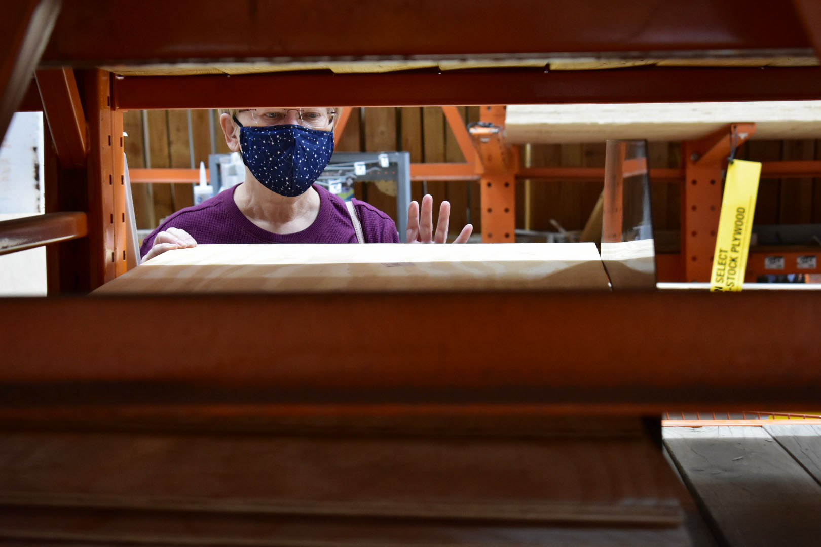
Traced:
<path fill-rule="evenodd" d="M 760 177 L 760 162 L 733 160 L 727 166 L 716 252 L 713 255 L 713 275 L 710 277 L 711 291 L 741 290 L 747 270 Z"/>

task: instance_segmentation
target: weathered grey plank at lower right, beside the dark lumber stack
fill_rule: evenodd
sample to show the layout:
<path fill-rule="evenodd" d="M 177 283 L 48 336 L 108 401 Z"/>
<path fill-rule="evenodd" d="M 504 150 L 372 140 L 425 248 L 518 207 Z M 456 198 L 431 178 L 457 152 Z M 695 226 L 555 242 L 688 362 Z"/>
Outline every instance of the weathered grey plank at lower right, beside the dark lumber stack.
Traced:
<path fill-rule="evenodd" d="M 665 427 L 664 443 L 727 545 L 814 545 L 821 485 L 761 427 Z"/>

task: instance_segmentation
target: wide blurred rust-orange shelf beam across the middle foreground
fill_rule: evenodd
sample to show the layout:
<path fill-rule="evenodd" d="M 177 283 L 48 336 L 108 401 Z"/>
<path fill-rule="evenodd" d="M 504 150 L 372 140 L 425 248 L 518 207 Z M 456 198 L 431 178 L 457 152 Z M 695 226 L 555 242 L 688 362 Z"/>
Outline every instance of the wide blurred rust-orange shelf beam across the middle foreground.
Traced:
<path fill-rule="evenodd" d="M 6 299 L 0 307 L 7 407 L 660 413 L 821 403 L 821 292 L 143 296 Z M 385 310 L 391 321 L 369 329 L 348 320 Z M 89 336 L 105 317 L 118 318 L 113 350 Z M 174 317 L 174 338 L 186 343 L 147 340 L 144 326 L 157 317 Z M 412 334 L 419 317 L 436 317 L 447 335 L 420 343 Z M 334 328 L 319 337 L 305 329 L 320 323 Z M 500 326 L 511 325 L 500 341 Z"/>

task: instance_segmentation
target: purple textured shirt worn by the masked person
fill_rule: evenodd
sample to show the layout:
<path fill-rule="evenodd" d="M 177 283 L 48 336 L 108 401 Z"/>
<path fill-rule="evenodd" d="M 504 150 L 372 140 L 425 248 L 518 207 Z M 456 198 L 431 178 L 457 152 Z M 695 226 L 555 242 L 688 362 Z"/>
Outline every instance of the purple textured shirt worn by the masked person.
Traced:
<path fill-rule="evenodd" d="M 319 193 L 319 215 L 305 230 L 294 234 L 274 234 L 248 220 L 234 203 L 234 190 L 223 190 L 213 198 L 193 207 L 186 207 L 167 217 L 157 226 L 140 247 L 140 255 L 148 254 L 154 237 L 168 228 L 186 230 L 197 243 L 356 243 L 351 216 L 345 202 L 322 186 L 314 185 Z M 354 200 L 362 224 L 366 243 L 399 243 L 397 225 L 391 217 L 373 205 Z"/>

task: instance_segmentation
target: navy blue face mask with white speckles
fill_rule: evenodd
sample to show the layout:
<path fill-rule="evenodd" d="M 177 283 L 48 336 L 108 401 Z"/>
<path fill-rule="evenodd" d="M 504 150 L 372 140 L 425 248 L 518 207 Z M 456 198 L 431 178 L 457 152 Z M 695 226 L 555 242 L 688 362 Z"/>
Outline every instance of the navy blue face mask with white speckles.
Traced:
<path fill-rule="evenodd" d="M 333 154 L 333 131 L 302 125 L 240 126 L 242 161 L 251 175 L 277 194 L 305 194 Z"/>

